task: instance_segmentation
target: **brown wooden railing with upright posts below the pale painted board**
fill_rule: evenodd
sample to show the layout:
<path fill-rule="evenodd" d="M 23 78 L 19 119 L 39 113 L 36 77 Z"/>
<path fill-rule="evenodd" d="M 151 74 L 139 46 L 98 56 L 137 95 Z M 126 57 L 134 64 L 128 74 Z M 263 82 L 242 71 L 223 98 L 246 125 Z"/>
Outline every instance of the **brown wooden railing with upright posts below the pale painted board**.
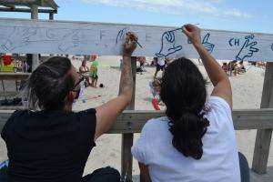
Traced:
<path fill-rule="evenodd" d="M 117 118 L 110 134 L 122 134 L 121 174 L 132 177 L 132 155 L 134 133 L 139 133 L 148 119 L 164 116 L 163 112 L 135 111 L 136 92 L 136 57 L 132 57 L 132 72 L 134 78 L 133 99 L 127 110 Z M 248 93 L 246 93 L 248 94 Z M 13 111 L 0 110 L 0 129 Z M 257 137 L 253 155 L 252 169 L 258 174 L 267 172 L 268 154 L 273 130 L 273 63 L 268 63 L 261 100 L 261 109 L 234 110 L 232 112 L 234 127 L 237 130 L 256 129 Z"/>

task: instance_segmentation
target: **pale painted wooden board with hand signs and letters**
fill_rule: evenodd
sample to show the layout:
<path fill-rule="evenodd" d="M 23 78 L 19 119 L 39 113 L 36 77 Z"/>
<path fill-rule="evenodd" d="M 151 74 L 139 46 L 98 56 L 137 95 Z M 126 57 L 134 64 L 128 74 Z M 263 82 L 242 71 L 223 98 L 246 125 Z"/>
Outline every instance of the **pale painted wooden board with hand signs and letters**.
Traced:
<path fill-rule="evenodd" d="M 119 56 L 127 31 L 143 47 L 134 56 L 199 57 L 179 27 L 9 18 L 0 19 L 0 52 Z M 204 29 L 202 42 L 217 59 L 273 61 L 273 35 Z"/>

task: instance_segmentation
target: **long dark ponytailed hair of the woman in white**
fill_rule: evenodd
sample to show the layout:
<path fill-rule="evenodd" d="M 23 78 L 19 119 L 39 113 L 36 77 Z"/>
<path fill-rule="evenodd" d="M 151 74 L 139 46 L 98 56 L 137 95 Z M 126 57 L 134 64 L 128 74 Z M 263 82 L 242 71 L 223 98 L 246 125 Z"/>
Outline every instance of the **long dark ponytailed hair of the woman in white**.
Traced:
<path fill-rule="evenodd" d="M 203 155 L 202 137 L 209 121 L 204 117 L 206 80 L 197 66 L 184 57 L 167 66 L 160 96 L 167 106 L 173 146 L 185 157 L 200 159 Z"/>

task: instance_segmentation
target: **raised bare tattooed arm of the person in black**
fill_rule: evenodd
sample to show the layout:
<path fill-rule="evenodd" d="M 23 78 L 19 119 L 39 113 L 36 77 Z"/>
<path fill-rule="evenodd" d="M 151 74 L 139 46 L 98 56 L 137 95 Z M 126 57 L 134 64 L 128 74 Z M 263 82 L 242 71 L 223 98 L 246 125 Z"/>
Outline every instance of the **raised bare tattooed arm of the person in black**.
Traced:
<path fill-rule="evenodd" d="M 105 134 L 116 122 L 126 106 L 131 102 L 133 95 L 133 76 L 131 56 L 136 49 L 137 37 L 133 33 L 126 34 L 126 43 L 123 48 L 123 69 L 120 76 L 119 94 L 103 106 L 96 107 L 96 134 L 97 137 Z"/>

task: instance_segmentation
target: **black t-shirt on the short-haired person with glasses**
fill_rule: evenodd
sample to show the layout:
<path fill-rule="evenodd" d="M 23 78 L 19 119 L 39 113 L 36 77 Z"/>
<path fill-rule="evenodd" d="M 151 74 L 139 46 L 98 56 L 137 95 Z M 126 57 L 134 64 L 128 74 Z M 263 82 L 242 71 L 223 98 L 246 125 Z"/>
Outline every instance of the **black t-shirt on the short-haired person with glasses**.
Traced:
<path fill-rule="evenodd" d="M 96 109 L 15 111 L 1 133 L 9 182 L 79 182 L 96 146 Z"/>

